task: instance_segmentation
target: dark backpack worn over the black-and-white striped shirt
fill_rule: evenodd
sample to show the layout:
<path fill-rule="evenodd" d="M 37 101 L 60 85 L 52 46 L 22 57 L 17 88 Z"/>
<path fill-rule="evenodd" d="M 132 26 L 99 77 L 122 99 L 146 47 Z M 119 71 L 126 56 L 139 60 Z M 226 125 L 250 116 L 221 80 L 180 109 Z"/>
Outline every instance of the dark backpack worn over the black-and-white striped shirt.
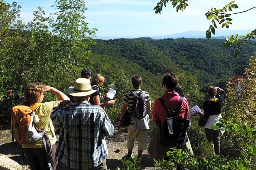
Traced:
<path fill-rule="evenodd" d="M 135 93 L 131 91 L 134 100 L 133 106 L 131 108 L 132 115 L 137 119 L 143 119 L 148 114 L 147 103 L 145 100 L 145 91 L 140 91 L 139 93 Z"/>

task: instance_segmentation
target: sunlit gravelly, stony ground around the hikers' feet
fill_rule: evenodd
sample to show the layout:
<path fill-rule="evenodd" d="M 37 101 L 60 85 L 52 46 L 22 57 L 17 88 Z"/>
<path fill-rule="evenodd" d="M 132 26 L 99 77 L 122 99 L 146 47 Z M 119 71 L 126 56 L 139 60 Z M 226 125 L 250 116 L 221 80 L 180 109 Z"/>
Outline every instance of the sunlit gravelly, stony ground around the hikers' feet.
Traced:
<path fill-rule="evenodd" d="M 106 137 L 109 155 L 107 158 L 108 169 L 115 170 L 116 167 L 123 167 L 121 159 L 127 153 L 126 139 L 126 128 L 116 128 L 113 136 Z M 121 149 L 120 152 L 117 152 L 118 148 Z M 12 133 L 9 127 L 0 127 L 0 154 L 5 154 L 10 157 L 10 159 L 18 162 L 22 165 L 23 170 L 30 170 L 26 160 L 23 161 L 22 150 L 19 143 L 12 143 Z M 136 140 L 133 154 L 137 154 Z M 150 156 L 147 150 L 143 152 L 141 167 L 142 169 L 153 170 L 153 164 L 150 162 Z M 65 166 L 60 165 L 58 169 L 65 170 Z"/>

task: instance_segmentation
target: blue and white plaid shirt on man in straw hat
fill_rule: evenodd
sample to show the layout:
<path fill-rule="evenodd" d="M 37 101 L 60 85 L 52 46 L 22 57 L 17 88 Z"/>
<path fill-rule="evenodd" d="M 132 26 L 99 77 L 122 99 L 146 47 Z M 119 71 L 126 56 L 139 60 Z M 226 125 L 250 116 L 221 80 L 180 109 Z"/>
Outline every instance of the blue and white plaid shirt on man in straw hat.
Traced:
<path fill-rule="evenodd" d="M 76 101 L 68 109 L 53 108 L 52 122 L 61 125 L 55 156 L 72 169 L 91 169 L 108 156 L 104 135 L 114 126 L 98 105 Z"/>

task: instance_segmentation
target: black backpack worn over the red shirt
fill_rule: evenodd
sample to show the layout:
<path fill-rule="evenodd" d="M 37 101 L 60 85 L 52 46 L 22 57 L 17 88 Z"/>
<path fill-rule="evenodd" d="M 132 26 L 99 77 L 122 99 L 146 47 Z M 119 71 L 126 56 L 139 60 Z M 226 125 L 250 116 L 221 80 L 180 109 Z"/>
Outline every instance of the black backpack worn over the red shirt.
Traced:
<path fill-rule="evenodd" d="M 165 149 L 169 149 L 171 147 L 180 147 L 188 142 L 187 130 L 189 126 L 189 120 L 182 119 L 178 116 L 183 97 L 181 96 L 175 111 L 171 113 L 166 106 L 163 98 L 159 99 L 168 113 L 168 118 L 165 120 L 164 123 L 161 123 L 161 121 L 159 121 L 159 128 L 161 132 L 160 143 Z"/>

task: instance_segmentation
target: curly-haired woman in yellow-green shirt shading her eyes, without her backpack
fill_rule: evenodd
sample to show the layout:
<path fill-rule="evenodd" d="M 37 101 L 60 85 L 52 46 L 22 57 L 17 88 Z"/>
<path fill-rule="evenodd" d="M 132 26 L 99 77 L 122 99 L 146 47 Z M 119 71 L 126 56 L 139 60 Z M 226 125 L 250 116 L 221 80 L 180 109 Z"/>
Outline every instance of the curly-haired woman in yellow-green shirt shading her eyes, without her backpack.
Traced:
<path fill-rule="evenodd" d="M 53 92 L 59 101 L 43 102 L 43 98 L 46 92 Z M 54 162 L 54 154 L 56 150 L 56 135 L 54 132 L 54 126 L 50 120 L 50 115 L 52 113 L 52 108 L 59 105 L 62 100 L 69 100 L 61 91 L 55 89 L 51 86 L 46 86 L 39 83 L 29 84 L 24 92 L 25 102 L 23 105 L 27 105 L 35 111 L 38 115 L 40 121 L 35 123 L 39 129 L 45 129 L 49 137 L 50 145 L 52 146 L 52 152 L 45 152 L 45 146 L 42 140 L 35 142 L 33 144 L 22 144 L 23 152 L 27 157 L 29 166 L 31 170 L 49 170 L 48 162 L 51 163 L 52 169 L 56 169 L 56 164 Z"/>

